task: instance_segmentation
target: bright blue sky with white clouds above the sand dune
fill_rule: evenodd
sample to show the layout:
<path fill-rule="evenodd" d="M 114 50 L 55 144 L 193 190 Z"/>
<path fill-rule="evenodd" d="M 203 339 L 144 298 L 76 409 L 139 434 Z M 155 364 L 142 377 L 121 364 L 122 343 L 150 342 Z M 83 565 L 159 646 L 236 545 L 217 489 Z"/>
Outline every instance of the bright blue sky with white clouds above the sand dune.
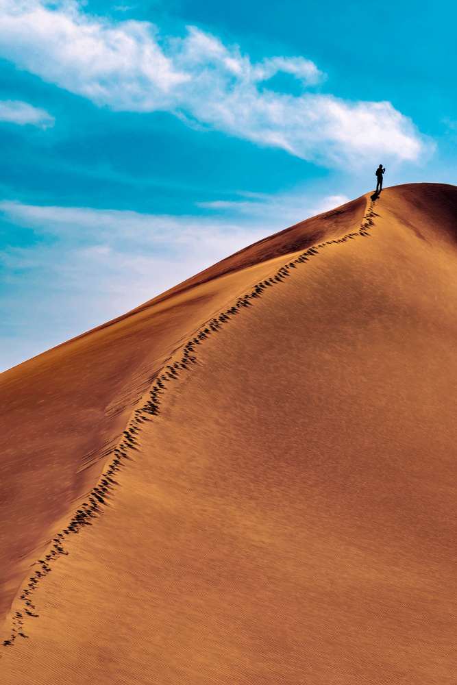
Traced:
<path fill-rule="evenodd" d="M 0 370 L 385 185 L 456 183 L 451 3 L 0 0 Z"/>

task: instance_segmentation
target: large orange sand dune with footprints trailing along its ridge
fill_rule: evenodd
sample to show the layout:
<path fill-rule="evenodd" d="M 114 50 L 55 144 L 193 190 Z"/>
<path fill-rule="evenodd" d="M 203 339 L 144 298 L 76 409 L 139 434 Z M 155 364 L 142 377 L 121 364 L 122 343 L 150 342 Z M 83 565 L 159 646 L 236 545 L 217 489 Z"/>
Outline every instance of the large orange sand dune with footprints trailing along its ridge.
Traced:
<path fill-rule="evenodd" d="M 2 685 L 455 685 L 456 214 L 367 195 L 0 376 Z"/>

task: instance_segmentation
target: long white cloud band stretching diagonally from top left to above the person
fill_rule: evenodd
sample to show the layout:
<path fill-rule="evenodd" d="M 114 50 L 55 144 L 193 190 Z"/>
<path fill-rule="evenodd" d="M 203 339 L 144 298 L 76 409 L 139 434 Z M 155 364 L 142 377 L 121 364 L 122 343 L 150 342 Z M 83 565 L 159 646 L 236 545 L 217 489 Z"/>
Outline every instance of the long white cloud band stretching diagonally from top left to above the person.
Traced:
<path fill-rule="evenodd" d="M 0 55 L 47 82 L 114 110 L 166 110 L 306 160 L 344 164 L 417 160 L 430 143 L 389 102 L 351 102 L 304 92 L 275 92 L 285 72 L 304 88 L 323 74 L 301 57 L 253 63 L 236 45 L 197 27 L 162 38 L 144 21 L 113 22 L 84 14 L 75 2 L 56 9 L 39 0 L 0 0 Z"/>

